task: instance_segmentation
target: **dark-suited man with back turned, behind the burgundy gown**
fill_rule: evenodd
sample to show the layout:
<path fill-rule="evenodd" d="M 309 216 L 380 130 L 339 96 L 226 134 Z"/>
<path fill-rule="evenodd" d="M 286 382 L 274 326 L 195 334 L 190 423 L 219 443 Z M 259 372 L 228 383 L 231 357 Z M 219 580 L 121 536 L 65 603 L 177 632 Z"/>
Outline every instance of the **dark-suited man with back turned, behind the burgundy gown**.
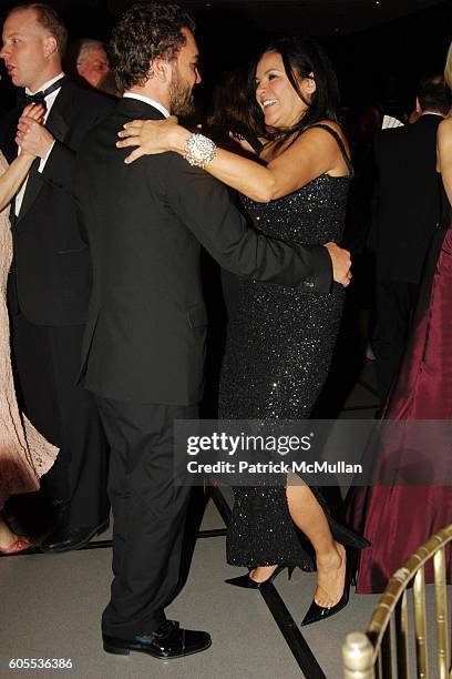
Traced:
<path fill-rule="evenodd" d="M 451 107 L 441 77 L 422 81 L 419 118 L 382 130 L 374 140 L 378 169 L 374 243 L 377 324 L 373 349 L 383 403 L 405 347 L 427 252 L 441 214 L 436 129 Z"/>

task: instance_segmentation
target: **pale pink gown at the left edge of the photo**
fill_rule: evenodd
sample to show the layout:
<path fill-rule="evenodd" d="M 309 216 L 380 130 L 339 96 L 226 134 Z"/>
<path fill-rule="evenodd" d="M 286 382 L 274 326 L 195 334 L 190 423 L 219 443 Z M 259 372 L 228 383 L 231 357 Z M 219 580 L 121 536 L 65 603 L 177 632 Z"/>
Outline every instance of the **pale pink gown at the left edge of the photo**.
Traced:
<path fill-rule="evenodd" d="M 0 174 L 8 164 L 0 153 Z M 38 490 L 58 455 L 19 412 L 12 378 L 7 280 L 12 260 L 9 207 L 0 212 L 0 509 L 14 493 Z"/>

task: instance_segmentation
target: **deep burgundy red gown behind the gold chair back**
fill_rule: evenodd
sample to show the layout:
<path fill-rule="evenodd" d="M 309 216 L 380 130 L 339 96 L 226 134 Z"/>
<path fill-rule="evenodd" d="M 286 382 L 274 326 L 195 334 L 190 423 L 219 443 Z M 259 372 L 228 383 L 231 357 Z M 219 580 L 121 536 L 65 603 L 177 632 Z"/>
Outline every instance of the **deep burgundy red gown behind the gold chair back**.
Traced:
<path fill-rule="evenodd" d="M 428 302 L 420 303 L 384 419 L 452 419 L 452 227 L 442 242 L 429 290 Z M 445 439 L 444 445 L 452 448 L 452 440 Z M 399 449 L 401 466 L 409 467 L 411 452 L 408 442 Z M 380 459 L 384 458 L 382 453 Z M 434 465 L 435 453 L 438 447 L 432 442 L 425 453 L 429 465 Z M 448 450 L 443 449 L 444 453 Z M 357 591 L 381 592 L 418 547 L 452 523 L 452 486 L 399 483 L 353 487 L 347 497 L 347 516 L 353 528 L 371 543 L 360 554 Z M 451 553 L 449 549 L 446 555 L 449 582 L 452 582 Z M 431 564 L 425 568 L 425 580 L 433 581 Z"/>

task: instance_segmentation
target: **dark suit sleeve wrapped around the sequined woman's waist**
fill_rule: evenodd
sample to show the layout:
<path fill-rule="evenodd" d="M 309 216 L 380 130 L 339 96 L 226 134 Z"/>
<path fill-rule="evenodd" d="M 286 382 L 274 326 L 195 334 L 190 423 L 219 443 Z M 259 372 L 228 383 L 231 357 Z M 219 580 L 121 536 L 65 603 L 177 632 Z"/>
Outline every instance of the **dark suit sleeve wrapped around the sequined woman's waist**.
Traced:
<path fill-rule="evenodd" d="M 322 245 L 289 245 L 258 233 L 247 226 L 223 184 L 173 153 L 161 158 L 170 209 L 224 268 L 246 278 L 330 292 L 331 259 Z M 155 165 L 148 171 L 155 181 Z"/>

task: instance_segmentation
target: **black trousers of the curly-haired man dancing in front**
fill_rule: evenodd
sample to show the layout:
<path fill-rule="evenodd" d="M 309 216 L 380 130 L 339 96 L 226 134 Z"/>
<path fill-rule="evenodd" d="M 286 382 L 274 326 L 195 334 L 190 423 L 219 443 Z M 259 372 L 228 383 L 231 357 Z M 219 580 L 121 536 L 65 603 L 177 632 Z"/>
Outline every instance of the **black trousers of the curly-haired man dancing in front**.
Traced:
<path fill-rule="evenodd" d="M 111 447 L 113 582 L 102 631 L 134 637 L 157 629 L 177 592 L 191 487 L 175 484 L 174 420 L 197 405 L 119 402 L 96 396 Z"/>

